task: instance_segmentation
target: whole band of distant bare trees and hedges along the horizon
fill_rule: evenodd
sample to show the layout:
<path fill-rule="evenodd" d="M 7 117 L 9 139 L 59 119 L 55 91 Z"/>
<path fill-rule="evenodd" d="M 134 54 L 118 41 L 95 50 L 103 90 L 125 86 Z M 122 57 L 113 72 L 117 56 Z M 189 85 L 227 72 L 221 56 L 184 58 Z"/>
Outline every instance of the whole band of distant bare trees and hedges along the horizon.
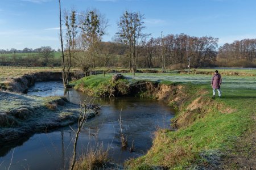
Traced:
<path fill-rule="evenodd" d="M 217 43 L 218 39 L 211 36 L 193 37 L 183 33 L 151 38 L 138 49 L 138 67 L 161 67 L 162 57 L 167 69 L 185 69 L 189 58 L 191 67 L 256 67 L 256 39 L 234 41 L 220 48 Z M 27 49 L 23 50 L 27 53 L 0 54 L 0 65 L 61 66 L 57 53 L 47 56 L 40 48 L 36 53 Z M 95 66 L 129 67 L 128 61 L 126 45 L 100 42 Z M 76 66 L 76 62 L 73 61 L 72 66 Z"/>

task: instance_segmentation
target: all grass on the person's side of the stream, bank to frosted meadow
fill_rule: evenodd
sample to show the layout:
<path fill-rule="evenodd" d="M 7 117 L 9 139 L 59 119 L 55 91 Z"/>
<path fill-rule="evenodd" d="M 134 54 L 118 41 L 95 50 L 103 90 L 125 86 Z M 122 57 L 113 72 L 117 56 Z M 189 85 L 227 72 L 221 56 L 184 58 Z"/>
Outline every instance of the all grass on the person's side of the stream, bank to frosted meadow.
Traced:
<path fill-rule="evenodd" d="M 122 82 L 134 82 L 131 74 L 124 75 L 129 79 Z M 75 83 L 82 83 L 86 88 L 97 91 L 110 84 L 111 76 L 112 74 L 105 77 L 89 76 Z M 156 131 L 152 148 L 146 155 L 126 162 L 127 167 L 200 169 L 212 166 L 217 169 L 239 169 L 253 164 L 255 76 L 224 76 L 221 99 L 211 98 L 210 75 L 135 74 L 135 79 L 153 80 L 164 84 L 176 82 L 175 84 L 183 86 L 183 94 L 189 98 L 181 105 L 175 119 L 182 120 L 187 117 L 187 121 L 191 123 L 176 131 Z M 175 106 L 173 103 L 169 104 Z M 255 164 L 253 168 L 254 166 Z"/>

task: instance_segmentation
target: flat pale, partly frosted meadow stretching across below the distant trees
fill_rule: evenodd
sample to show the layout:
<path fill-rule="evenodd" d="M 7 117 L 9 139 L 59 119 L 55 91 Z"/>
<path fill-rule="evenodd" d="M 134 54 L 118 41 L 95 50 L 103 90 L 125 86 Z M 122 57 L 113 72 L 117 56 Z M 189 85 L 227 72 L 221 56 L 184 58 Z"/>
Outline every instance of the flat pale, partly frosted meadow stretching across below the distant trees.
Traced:
<path fill-rule="evenodd" d="M 107 67 L 96 67 L 92 70 L 108 70 Z M 120 71 L 122 68 L 113 68 Z M 73 69 L 79 70 L 79 69 Z M 0 82 L 6 78 L 14 78 L 28 73 L 35 73 L 38 71 L 61 71 L 61 67 L 7 67 L 0 66 Z M 209 71 L 206 70 L 205 71 Z M 256 75 L 256 70 L 242 70 Z M 221 71 L 220 71 L 221 73 Z M 112 74 L 109 74 L 112 75 Z M 123 73 L 127 78 L 132 79 L 133 74 Z M 103 75 L 97 75 L 103 76 Z M 171 81 L 179 83 L 193 83 L 193 84 L 209 84 L 211 83 L 212 75 L 204 74 L 178 74 L 178 73 L 136 73 L 135 79 L 153 80 L 157 82 Z M 222 88 L 245 88 L 256 89 L 255 86 L 256 76 L 222 76 Z"/>

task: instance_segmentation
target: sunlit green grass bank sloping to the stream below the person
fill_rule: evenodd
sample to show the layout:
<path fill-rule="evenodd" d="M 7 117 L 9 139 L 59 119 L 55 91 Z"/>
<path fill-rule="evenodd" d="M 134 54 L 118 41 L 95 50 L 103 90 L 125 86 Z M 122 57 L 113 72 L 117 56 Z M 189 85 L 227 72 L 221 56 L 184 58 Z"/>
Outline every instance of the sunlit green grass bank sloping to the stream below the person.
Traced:
<path fill-rule="evenodd" d="M 197 94 L 198 91 L 210 91 L 203 95 L 203 100 L 209 100 L 212 95 L 211 89 L 207 86 L 185 86 L 187 93 L 195 97 L 184 104 L 185 109 L 176 117 L 181 116 L 192 100 L 200 96 Z M 141 169 L 146 166 L 163 166 L 170 169 L 203 166 L 210 160 L 202 155 L 210 153 L 212 157 L 220 157 L 228 150 L 234 150 L 238 139 L 246 131 L 255 128 L 252 117 L 255 116 L 256 93 L 255 90 L 228 88 L 222 91 L 225 95 L 221 99 L 210 99 L 213 104 L 202 107 L 205 113 L 193 113 L 193 124 L 177 131 L 157 131 L 151 150 L 146 155 L 126 163 L 130 169 Z M 251 145 L 248 144 L 246 147 L 245 150 L 250 151 Z"/>

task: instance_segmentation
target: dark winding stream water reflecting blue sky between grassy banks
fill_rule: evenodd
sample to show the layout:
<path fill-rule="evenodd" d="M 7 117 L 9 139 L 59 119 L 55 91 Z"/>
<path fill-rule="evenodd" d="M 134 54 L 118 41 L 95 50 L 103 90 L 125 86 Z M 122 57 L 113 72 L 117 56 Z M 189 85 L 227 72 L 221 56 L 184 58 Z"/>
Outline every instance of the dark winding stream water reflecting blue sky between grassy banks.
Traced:
<path fill-rule="evenodd" d="M 63 94 L 75 104 L 87 98 L 87 101 L 102 105 L 100 114 L 88 120 L 80 134 L 79 154 L 88 148 L 95 148 L 96 143 L 102 143 L 105 149 L 109 148 L 112 162 L 121 165 L 127 159 L 146 154 L 152 146 L 156 128 L 170 127 L 170 119 L 174 116 L 173 110 L 160 101 L 138 97 L 88 97 L 73 89 L 64 92 L 61 82 L 36 83 L 27 95 L 45 97 Z M 134 141 L 134 152 L 121 148 L 118 122 L 120 112 L 123 132 L 127 135 L 129 146 Z M 71 128 L 76 130 L 77 125 L 34 134 L 23 143 L 10 146 L 8 152 L 1 152 L 0 149 L 0 169 L 8 169 L 12 156 L 10 169 L 67 169 L 73 150 L 74 133 Z"/>

